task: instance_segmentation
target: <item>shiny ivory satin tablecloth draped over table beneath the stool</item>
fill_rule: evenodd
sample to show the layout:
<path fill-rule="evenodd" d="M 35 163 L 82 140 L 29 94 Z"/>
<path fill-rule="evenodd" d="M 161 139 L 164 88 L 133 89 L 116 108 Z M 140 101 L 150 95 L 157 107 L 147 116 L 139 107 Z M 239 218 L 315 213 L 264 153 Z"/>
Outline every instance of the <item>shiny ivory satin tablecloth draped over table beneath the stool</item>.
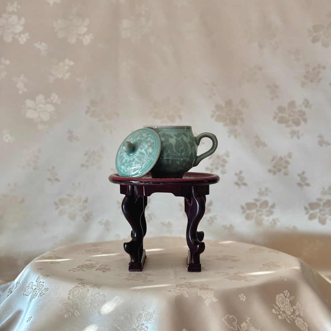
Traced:
<path fill-rule="evenodd" d="M 52 250 L 0 297 L 0 330 L 331 330 L 331 284 L 307 264 L 204 242 L 201 273 L 187 272 L 183 238 L 145 238 L 142 272 L 128 272 L 123 240 Z"/>

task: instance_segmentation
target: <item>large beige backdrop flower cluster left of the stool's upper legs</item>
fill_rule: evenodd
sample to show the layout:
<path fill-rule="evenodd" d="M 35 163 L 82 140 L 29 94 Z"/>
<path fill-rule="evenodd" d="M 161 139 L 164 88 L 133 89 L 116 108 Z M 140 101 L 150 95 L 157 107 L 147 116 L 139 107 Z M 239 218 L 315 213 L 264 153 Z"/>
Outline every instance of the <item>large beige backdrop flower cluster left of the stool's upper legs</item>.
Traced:
<path fill-rule="evenodd" d="M 67 193 L 64 198 L 59 198 L 54 201 L 55 209 L 59 210 L 60 216 L 68 215 L 68 218 L 74 221 L 77 216 L 82 217 L 84 221 L 88 221 L 91 217 L 91 213 L 87 213 L 88 197 L 83 198 L 79 194 L 80 183 L 78 185 L 72 184 L 71 193 Z"/>

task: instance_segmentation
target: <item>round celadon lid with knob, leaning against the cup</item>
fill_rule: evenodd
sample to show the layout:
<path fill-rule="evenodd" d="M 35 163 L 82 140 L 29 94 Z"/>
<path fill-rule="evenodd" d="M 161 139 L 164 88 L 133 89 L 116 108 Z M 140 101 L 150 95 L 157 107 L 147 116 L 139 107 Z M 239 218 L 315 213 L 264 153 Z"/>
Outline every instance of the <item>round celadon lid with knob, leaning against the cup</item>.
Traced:
<path fill-rule="evenodd" d="M 143 128 L 130 133 L 118 148 L 116 169 L 122 177 L 142 177 L 159 159 L 161 140 L 152 129 Z"/>

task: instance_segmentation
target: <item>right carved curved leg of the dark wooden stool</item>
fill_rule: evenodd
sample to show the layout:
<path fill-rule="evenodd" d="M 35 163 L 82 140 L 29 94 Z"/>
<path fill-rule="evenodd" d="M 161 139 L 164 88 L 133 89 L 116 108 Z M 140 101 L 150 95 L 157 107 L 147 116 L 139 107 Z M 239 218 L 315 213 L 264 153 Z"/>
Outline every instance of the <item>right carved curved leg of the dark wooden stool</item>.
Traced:
<path fill-rule="evenodd" d="M 191 187 L 191 196 L 185 197 L 185 213 L 187 215 L 186 241 L 189 248 L 187 271 L 201 271 L 200 254 L 205 250 L 202 242 L 204 233 L 197 231 L 199 222 L 205 213 L 206 196 L 201 195 L 197 186 Z"/>

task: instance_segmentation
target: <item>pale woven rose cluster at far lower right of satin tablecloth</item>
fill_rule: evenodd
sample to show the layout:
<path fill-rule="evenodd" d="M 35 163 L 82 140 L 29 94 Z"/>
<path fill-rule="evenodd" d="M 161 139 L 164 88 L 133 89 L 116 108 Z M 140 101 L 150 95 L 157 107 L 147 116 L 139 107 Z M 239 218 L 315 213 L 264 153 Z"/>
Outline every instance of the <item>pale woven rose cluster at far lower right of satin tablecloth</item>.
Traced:
<path fill-rule="evenodd" d="M 307 323 L 301 318 L 304 317 L 304 308 L 299 302 L 292 306 L 294 296 L 288 290 L 276 295 L 276 305 L 273 305 L 272 312 L 278 315 L 279 319 L 285 319 L 288 323 L 295 321 L 295 324 L 302 330 L 308 331 Z M 299 317 L 299 315 L 301 317 Z"/>

